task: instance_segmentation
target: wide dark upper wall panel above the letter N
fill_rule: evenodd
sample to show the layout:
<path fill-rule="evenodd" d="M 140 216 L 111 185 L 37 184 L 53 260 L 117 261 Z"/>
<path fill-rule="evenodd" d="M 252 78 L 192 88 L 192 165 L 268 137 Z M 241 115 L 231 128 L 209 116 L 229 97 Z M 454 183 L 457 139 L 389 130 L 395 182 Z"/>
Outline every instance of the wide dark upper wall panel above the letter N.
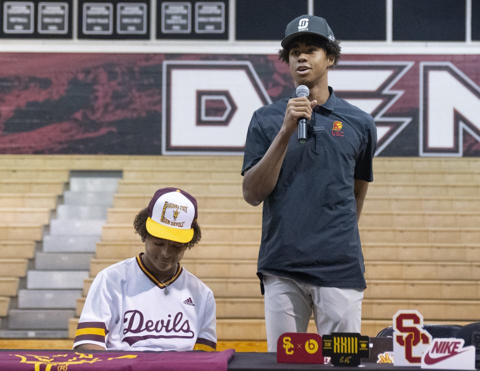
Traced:
<path fill-rule="evenodd" d="M 465 41 L 465 0 L 393 0 L 393 41 Z"/>

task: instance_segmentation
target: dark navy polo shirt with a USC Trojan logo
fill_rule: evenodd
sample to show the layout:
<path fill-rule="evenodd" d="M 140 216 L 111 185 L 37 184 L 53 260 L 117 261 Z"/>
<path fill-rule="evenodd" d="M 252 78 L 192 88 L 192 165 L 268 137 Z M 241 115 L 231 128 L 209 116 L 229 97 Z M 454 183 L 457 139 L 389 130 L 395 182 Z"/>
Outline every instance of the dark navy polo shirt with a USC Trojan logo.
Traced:
<path fill-rule="evenodd" d="M 313 109 L 313 136 L 292 134 L 278 181 L 263 201 L 258 276 L 270 273 L 318 286 L 364 288 L 354 180 L 373 181 L 372 117 L 335 97 Z M 289 98 L 253 113 L 241 174 L 265 154 Z M 262 290 L 263 291 L 263 290 Z"/>

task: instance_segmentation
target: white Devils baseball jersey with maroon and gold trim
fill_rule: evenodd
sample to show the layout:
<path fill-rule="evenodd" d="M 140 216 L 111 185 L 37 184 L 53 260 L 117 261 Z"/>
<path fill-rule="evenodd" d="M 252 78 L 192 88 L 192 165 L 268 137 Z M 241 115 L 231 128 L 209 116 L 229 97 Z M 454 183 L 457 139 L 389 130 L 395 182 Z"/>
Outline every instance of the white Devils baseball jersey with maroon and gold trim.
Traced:
<path fill-rule="evenodd" d="M 142 254 L 97 274 L 73 347 L 88 343 L 107 350 L 215 350 L 211 290 L 181 266 L 162 284 L 143 265 Z"/>

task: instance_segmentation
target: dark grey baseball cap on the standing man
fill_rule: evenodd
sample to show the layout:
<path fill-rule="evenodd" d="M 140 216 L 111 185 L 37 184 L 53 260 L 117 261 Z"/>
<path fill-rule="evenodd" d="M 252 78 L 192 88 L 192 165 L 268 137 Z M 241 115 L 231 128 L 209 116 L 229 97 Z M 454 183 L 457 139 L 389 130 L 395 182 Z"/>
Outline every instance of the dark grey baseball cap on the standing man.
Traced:
<path fill-rule="evenodd" d="M 280 43 L 281 47 L 285 48 L 290 41 L 301 35 L 315 35 L 326 40 L 335 40 L 335 36 L 333 36 L 333 32 L 328 27 L 325 19 L 303 15 L 286 25 L 285 38 Z"/>

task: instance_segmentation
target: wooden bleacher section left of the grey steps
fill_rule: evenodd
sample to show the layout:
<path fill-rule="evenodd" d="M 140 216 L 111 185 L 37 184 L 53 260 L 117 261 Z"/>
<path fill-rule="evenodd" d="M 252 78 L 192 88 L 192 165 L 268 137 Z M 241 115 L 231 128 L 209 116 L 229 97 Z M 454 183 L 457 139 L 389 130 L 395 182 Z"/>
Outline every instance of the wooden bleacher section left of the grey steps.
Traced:
<path fill-rule="evenodd" d="M 15 156 L 0 159 L 0 317 L 8 315 L 10 298 L 33 258 L 68 170 L 38 168 Z M 13 160 L 13 161 L 11 161 Z"/>

